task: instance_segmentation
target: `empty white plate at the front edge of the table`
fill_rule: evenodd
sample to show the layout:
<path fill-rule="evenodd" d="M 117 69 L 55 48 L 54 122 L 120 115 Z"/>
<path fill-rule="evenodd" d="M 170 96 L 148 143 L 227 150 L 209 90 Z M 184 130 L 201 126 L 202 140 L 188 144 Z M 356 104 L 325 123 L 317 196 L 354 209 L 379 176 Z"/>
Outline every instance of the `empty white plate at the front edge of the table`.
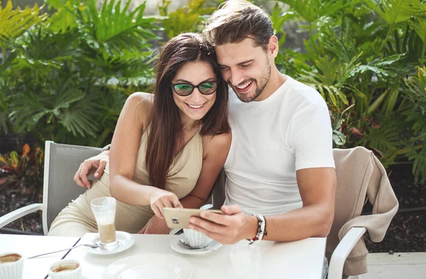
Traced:
<path fill-rule="evenodd" d="M 111 263 L 104 269 L 102 279 L 190 279 L 192 273 L 192 264 L 184 258 L 146 253 Z"/>

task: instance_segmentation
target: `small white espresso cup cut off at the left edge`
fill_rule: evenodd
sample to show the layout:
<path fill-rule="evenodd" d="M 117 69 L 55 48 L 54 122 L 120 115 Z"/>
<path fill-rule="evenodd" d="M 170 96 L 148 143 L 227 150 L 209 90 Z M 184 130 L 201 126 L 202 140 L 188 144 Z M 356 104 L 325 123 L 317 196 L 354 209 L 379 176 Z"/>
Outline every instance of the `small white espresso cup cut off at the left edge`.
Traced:
<path fill-rule="evenodd" d="M 0 278 L 21 279 L 23 260 L 21 253 L 0 253 Z"/>

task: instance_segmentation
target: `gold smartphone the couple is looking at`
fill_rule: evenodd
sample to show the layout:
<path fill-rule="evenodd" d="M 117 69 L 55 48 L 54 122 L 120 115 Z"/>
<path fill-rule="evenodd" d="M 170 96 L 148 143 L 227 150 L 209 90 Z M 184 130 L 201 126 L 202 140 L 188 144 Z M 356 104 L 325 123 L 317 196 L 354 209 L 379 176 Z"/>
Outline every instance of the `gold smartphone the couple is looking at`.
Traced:
<path fill-rule="evenodd" d="M 209 211 L 217 214 L 223 214 L 221 210 L 211 209 L 190 209 L 190 208 L 163 208 L 165 222 L 170 229 L 187 229 L 190 225 L 192 216 L 200 217 L 201 212 Z"/>

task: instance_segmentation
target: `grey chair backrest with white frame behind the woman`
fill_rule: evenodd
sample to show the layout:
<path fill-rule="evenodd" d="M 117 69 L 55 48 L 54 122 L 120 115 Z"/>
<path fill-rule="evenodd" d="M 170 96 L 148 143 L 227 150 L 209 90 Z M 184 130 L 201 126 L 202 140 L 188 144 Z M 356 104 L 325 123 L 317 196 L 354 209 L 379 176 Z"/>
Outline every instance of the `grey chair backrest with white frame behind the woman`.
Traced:
<path fill-rule="evenodd" d="M 73 178 L 80 164 L 97 155 L 101 148 L 72 146 L 53 141 L 45 142 L 45 164 L 43 180 L 43 231 L 48 234 L 59 212 L 72 199 L 84 193 L 86 188 L 75 184 Z M 93 179 L 93 177 L 92 177 Z"/>

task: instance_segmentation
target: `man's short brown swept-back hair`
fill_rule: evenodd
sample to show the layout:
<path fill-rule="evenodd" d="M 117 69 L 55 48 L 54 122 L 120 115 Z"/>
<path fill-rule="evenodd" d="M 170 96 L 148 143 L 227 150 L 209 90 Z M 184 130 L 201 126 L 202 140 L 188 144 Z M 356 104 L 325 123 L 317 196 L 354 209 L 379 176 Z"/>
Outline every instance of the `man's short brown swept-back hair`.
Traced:
<path fill-rule="evenodd" d="M 211 45 L 240 43 L 247 37 L 266 50 L 273 35 L 271 18 L 258 6 L 245 0 L 229 0 L 210 16 L 203 31 Z"/>

